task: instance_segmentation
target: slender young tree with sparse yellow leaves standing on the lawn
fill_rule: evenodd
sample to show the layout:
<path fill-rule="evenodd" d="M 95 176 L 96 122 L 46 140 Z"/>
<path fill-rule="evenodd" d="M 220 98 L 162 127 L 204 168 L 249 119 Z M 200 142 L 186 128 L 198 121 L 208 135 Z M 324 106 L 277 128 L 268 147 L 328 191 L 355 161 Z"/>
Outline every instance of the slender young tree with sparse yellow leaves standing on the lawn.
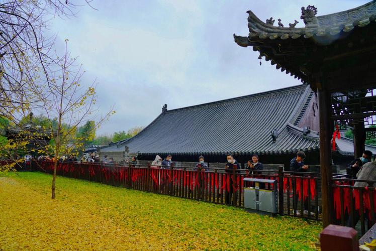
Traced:
<path fill-rule="evenodd" d="M 81 65 L 76 65 L 76 59 L 71 58 L 67 50 L 68 40 L 65 40 L 65 53 L 56 56 L 56 70 L 50 74 L 50 80 L 44 81 L 35 90 L 43 103 L 41 112 L 49 119 L 49 130 L 54 140 L 54 171 L 51 187 L 51 198 L 55 198 L 56 170 L 59 158 L 66 154 L 76 154 L 77 149 L 84 147 L 85 140 L 92 140 L 94 135 L 87 132 L 76 135 L 77 129 L 87 121 L 91 123 L 90 129 L 98 128 L 108 117 L 115 113 L 109 109 L 104 114 L 99 114 L 96 106 L 96 82 L 82 84 L 84 73 Z M 57 118 L 57 127 L 53 127 L 54 118 Z M 65 126 L 63 127 L 63 123 Z M 68 144 L 69 143 L 69 144 Z M 47 150 L 47 149 L 46 149 Z"/>

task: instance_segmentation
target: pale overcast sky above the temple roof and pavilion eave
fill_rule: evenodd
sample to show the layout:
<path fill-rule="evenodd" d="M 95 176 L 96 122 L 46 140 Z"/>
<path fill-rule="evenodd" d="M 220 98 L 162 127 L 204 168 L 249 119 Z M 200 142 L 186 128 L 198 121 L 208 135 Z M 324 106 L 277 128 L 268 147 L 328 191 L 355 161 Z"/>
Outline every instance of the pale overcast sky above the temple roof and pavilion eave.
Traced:
<path fill-rule="evenodd" d="M 57 50 L 69 40 L 86 71 L 82 84 L 97 79 L 100 111 L 115 105 L 97 131 L 103 135 L 147 126 L 164 103 L 174 109 L 301 84 L 235 44 L 234 33 L 248 35 L 246 11 L 304 27 L 302 6 L 315 5 L 321 16 L 367 2 L 95 0 L 98 11 L 86 6 L 77 18 L 55 18 L 51 32 Z"/>

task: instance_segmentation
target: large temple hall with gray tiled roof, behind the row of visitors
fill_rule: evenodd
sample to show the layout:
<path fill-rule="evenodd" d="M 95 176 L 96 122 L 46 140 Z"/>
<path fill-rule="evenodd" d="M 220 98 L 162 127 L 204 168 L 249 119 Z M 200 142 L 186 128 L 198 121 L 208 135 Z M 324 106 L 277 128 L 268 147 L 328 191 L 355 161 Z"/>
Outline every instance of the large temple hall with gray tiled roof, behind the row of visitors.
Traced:
<path fill-rule="evenodd" d="M 288 167 L 298 151 L 306 152 L 307 163 L 319 164 L 318 131 L 317 95 L 309 85 L 299 85 L 178 109 L 165 105 L 138 135 L 100 151 L 114 157 L 138 153 L 139 160 L 171 154 L 174 161 L 197 161 L 204 155 L 209 163 L 225 162 L 227 153 L 246 163 L 258 154 L 264 163 Z M 336 144 L 341 158 L 335 164 L 347 164 L 352 140 Z"/>

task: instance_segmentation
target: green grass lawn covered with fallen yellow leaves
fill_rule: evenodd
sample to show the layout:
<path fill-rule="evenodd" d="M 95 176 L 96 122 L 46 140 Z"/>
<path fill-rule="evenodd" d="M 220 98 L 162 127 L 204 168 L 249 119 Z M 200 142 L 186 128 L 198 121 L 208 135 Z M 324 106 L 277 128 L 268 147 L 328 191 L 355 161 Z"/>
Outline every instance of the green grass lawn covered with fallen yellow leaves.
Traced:
<path fill-rule="evenodd" d="M 321 222 L 22 172 L 0 177 L 0 250 L 314 249 Z"/>

